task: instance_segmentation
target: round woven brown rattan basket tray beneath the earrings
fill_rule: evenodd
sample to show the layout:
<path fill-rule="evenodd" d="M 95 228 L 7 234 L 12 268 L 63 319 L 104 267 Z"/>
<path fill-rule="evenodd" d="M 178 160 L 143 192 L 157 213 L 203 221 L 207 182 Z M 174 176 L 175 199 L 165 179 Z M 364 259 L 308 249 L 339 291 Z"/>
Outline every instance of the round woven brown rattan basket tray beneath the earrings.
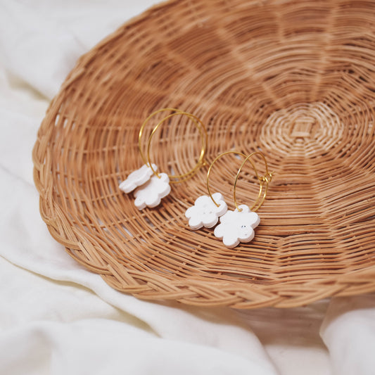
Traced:
<path fill-rule="evenodd" d="M 374 12 L 374 1 L 178 0 L 121 27 L 80 58 L 39 129 L 34 179 L 52 236 L 138 298 L 293 307 L 375 291 Z M 274 177 L 251 243 L 228 249 L 189 229 L 207 167 L 158 208 L 118 189 L 142 164 L 139 127 L 165 107 L 203 120 L 208 161 L 265 154 Z M 174 118 L 153 136 L 153 162 L 189 171 L 198 133 Z M 210 184 L 233 209 L 241 160 L 222 159 Z M 257 191 L 249 168 L 237 198 L 250 205 Z"/>

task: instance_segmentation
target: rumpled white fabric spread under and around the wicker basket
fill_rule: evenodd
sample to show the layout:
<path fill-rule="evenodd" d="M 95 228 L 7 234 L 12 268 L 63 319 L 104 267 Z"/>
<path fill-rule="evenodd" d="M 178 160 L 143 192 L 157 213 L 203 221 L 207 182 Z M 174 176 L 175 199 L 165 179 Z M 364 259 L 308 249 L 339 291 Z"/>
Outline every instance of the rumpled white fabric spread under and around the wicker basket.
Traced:
<path fill-rule="evenodd" d="M 374 374 L 374 295 L 288 310 L 151 303 L 49 235 L 31 159 L 44 112 L 77 58 L 153 2 L 0 2 L 0 374 Z"/>

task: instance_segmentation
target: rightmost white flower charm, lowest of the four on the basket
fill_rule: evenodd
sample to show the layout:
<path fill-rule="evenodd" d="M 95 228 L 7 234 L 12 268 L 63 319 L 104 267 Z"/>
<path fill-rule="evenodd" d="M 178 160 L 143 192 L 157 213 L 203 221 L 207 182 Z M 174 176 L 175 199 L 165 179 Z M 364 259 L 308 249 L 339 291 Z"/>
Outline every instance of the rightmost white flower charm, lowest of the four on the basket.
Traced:
<path fill-rule="evenodd" d="M 258 227 L 260 217 L 250 211 L 247 205 L 240 205 L 239 210 L 229 210 L 220 217 L 220 224 L 214 234 L 222 239 L 227 248 L 235 248 L 240 242 L 250 242 L 254 238 L 254 228 Z"/>

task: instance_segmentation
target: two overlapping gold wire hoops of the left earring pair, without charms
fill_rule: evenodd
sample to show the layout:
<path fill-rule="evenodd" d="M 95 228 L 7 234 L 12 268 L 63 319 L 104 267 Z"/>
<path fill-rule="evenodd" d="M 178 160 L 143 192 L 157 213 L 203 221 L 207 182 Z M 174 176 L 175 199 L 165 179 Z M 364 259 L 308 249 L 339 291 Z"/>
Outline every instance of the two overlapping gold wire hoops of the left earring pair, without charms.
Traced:
<path fill-rule="evenodd" d="M 164 111 L 174 111 L 174 113 L 171 113 L 170 115 L 167 115 L 162 120 L 160 120 L 160 122 L 158 122 L 157 125 L 155 125 L 155 127 L 153 128 L 153 131 L 151 132 L 150 136 L 148 137 L 148 142 L 147 142 L 147 147 L 146 147 L 146 156 L 145 156 L 142 149 L 141 149 L 141 139 L 142 139 L 142 135 L 143 135 L 143 132 L 144 132 L 144 127 L 146 126 L 147 122 L 151 119 L 151 117 L 153 117 L 154 115 L 157 115 L 160 112 L 164 112 Z M 205 125 L 203 125 L 203 122 L 198 117 L 196 117 L 194 115 L 191 115 L 191 113 L 187 113 L 187 112 L 184 112 L 184 111 L 176 109 L 176 108 L 163 108 L 163 109 L 160 109 L 160 110 L 156 110 L 155 112 L 151 113 L 151 115 L 149 115 L 146 118 L 146 120 L 144 121 L 144 123 L 141 126 L 141 129 L 139 130 L 139 136 L 138 136 L 138 146 L 139 146 L 139 153 L 141 153 L 141 158 L 144 160 L 144 163 L 148 164 L 151 167 L 151 170 L 153 171 L 153 174 L 155 174 L 155 176 L 160 178 L 158 172 L 156 172 L 153 169 L 153 166 L 152 166 L 152 163 L 151 163 L 151 157 L 150 157 L 151 141 L 152 141 L 153 135 L 158 130 L 158 128 L 163 124 L 163 122 L 169 120 L 171 117 L 176 116 L 176 115 L 186 115 L 187 117 L 189 117 L 189 119 L 193 120 L 194 124 L 196 125 L 196 128 L 199 130 L 199 133 L 201 134 L 201 139 L 202 139 L 202 147 L 201 147 L 201 153 L 199 155 L 198 163 L 196 163 L 196 165 L 191 170 L 189 170 L 189 172 L 186 172 L 184 174 L 170 174 L 170 175 L 168 175 L 168 177 L 170 177 L 170 179 L 178 179 L 179 181 L 182 181 L 184 179 L 188 179 L 191 176 L 193 176 L 193 174 L 195 174 L 200 167 L 205 165 L 204 157 L 205 157 L 205 151 L 206 151 L 206 148 L 207 148 L 208 134 L 207 134 L 207 130 L 205 129 Z M 170 183 L 172 184 L 174 182 L 177 182 L 177 181 L 171 181 Z"/>

